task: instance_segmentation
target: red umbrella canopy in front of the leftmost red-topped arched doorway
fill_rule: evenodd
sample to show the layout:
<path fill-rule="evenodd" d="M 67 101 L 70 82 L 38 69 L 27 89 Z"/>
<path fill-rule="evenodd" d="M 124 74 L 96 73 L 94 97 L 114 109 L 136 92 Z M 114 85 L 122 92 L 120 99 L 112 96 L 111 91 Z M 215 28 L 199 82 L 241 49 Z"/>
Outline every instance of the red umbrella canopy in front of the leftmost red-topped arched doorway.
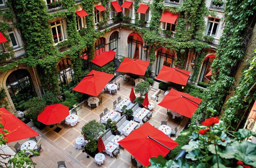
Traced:
<path fill-rule="evenodd" d="M 135 75 L 145 75 L 149 63 L 150 61 L 124 58 L 124 61 L 121 62 L 119 68 L 116 71 L 133 73 Z"/>

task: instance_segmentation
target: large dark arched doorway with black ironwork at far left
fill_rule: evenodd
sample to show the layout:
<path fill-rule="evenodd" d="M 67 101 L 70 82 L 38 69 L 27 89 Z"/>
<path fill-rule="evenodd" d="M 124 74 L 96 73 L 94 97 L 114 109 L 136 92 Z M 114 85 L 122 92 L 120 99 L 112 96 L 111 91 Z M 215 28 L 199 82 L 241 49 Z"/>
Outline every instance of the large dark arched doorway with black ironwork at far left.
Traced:
<path fill-rule="evenodd" d="M 16 110 L 24 110 L 22 104 L 36 96 L 31 76 L 26 69 L 12 72 L 6 80 L 6 87 Z"/>

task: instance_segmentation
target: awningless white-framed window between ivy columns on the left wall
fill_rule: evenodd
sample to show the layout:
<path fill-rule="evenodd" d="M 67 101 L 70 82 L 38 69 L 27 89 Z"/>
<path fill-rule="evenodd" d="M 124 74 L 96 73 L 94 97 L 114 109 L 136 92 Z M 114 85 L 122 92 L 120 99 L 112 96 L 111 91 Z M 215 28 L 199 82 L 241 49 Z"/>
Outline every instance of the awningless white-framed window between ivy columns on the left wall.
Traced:
<path fill-rule="evenodd" d="M 52 35 L 54 43 L 67 39 L 65 35 L 64 20 L 58 20 L 51 23 Z"/>

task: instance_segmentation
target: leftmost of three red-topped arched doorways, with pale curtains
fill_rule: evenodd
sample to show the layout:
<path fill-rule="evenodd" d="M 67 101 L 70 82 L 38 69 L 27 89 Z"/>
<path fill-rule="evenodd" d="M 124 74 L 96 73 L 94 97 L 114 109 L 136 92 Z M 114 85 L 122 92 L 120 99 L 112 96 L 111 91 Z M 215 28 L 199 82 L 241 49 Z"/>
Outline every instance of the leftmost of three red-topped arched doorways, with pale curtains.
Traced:
<path fill-rule="evenodd" d="M 140 37 L 139 34 L 131 33 L 128 36 L 128 56 L 129 58 L 138 58 L 142 60 L 142 46 L 143 46 L 143 39 Z"/>

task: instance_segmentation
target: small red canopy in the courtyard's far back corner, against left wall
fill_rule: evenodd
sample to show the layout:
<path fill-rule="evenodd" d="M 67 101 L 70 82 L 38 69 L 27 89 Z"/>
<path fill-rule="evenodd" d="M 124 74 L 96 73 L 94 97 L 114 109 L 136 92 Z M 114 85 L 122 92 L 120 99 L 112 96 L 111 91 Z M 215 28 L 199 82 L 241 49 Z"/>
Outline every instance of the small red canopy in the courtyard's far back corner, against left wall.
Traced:
<path fill-rule="evenodd" d="M 99 65 L 100 67 L 108 64 L 110 61 L 112 61 L 114 59 L 116 55 L 115 51 L 105 51 L 101 54 L 99 54 L 98 56 L 95 56 L 93 60 L 91 60 L 91 62 L 93 62 L 96 65 Z"/>

